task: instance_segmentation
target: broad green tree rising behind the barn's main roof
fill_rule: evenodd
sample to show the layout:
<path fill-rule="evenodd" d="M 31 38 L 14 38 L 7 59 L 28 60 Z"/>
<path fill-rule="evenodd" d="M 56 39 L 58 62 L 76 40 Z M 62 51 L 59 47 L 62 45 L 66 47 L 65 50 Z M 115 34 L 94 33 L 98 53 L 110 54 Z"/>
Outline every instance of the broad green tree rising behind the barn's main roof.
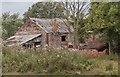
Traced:
<path fill-rule="evenodd" d="M 64 10 L 60 2 L 37 2 L 24 13 L 24 21 L 33 18 L 64 18 Z"/>

